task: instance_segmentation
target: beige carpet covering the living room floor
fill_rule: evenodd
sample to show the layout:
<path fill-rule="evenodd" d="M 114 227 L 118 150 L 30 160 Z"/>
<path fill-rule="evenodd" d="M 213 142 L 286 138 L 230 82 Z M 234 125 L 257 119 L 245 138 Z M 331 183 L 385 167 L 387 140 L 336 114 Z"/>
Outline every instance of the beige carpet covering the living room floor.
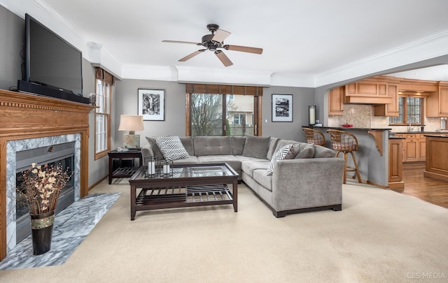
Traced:
<path fill-rule="evenodd" d="M 62 266 L 0 271 L 0 282 L 447 282 L 448 210 L 345 184 L 342 211 L 275 218 L 244 184 L 231 205 L 137 212 L 118 201 Z M 435 279 L 434 279 L 435 278 Z"/>

